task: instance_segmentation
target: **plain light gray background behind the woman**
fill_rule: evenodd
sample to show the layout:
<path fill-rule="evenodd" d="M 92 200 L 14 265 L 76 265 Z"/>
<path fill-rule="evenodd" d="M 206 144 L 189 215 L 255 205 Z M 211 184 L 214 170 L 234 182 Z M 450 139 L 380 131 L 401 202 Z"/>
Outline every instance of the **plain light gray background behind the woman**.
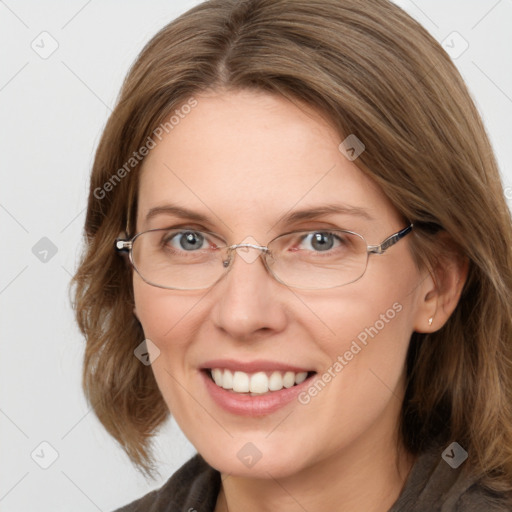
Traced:
<path fill-rule="evenodd" d="M 171 421 L 158 438 L 161 478 L 146 481 L 104 432 L 80 388 L 84 343 L 67 287 L 94 151 L 124 75 L 158 29 L 197 3 L 0 0 L 1 512 L 108 512 L 162 485 L 194 453 Z M 397 3 L 437 40 L 450 36 L 451 51 L 464 44 L 453 31 L 469 44 L 454 60 L 512 204 L 512 0 Z M 47 59 L 31 47 L 51 48 L 43 31 L 58 43 Z M 53 450 L 58 458 L 42 469 Z"/>

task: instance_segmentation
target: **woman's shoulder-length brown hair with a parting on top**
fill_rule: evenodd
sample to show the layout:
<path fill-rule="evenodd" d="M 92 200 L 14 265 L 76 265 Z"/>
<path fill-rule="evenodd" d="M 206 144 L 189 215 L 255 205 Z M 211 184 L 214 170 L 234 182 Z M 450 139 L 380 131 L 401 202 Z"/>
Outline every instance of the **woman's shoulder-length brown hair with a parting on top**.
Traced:
<path fill-rule="evenodd" d="M 151 368 L 133 355 L 144 335 L 132 312 L 131 269 L 113 246 L 135 225 L 140 162 L 126 162 L 176 108 L 218 88 L 304 102 L 334 123 L 340 141 L 356 134 L 366 150 L 355 163 L 414 223 L 418 261 L 434 268 L 440 230 L 469 260 L 446 325 L 411 338 L 401 438 L 419 454 L 445 432 L 468 451 L 484 485 L 510 491 L 510 211 L 458 71 L 387 0 L 211 0 L 141 52 L 97 149 L 86 250 L 74 278 L 87 340 L 83 386 L 105 428 L 152 473 L 151 438 L 169 411 Z"/>

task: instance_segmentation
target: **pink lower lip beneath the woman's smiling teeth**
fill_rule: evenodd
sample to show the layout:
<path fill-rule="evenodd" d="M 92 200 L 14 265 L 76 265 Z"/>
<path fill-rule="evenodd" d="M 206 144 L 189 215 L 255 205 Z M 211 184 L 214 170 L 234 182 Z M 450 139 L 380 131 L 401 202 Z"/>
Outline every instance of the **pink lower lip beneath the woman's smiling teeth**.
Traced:
<path fill-rule="evenodd" d="M 221 388 L 213 382 L 209 371 L 201 371 L 206 389 L 213 400 L 223 409 L 240 416 L 265 416 L 289 404 L 297 395 L 309 385 L 314 374 L 300 384 L 279 391 L 271 391 L 260 396 L 235 393 Z"/>

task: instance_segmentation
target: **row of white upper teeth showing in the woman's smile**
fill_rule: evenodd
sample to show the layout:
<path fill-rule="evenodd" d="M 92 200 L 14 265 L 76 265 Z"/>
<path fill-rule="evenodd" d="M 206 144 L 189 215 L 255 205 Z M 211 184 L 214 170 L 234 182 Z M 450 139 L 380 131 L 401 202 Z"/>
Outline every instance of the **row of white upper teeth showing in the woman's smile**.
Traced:
<path fill-rule="evenodd" d="M 224 389 L 232 389 L 236 393 L 268 393 L 279 391 L 284 388 L 291 388 L 295 384 L 304 382 L 308 372 L 272 372 L 267 375 L 265 372 L 245 373 L 240 371 L 231 372 L 221 368 L 214 368 L 211 374 L 215 384 Z"/>

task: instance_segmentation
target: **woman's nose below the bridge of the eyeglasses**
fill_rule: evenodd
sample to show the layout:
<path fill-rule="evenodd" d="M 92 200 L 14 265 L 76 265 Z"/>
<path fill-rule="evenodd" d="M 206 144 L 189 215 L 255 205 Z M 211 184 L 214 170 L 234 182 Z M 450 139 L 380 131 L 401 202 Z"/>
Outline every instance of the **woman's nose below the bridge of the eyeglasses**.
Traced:
<path fill-rule="evenodd" d="M 260 254 L 251 247 L 233 251 L 230 270 L 216 284 L 213 321 L 236 340 L 250 341 L 286 327 L 286 290 L 268 274 Z"/>

